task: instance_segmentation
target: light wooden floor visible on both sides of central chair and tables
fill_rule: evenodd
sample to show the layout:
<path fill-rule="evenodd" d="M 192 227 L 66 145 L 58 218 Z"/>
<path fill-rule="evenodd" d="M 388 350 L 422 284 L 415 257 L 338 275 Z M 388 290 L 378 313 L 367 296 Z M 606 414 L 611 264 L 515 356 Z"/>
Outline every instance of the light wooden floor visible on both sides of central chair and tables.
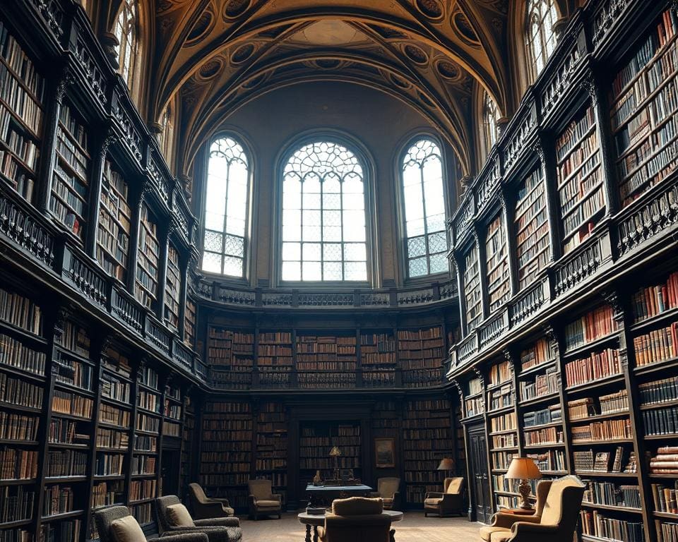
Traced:
<path fill-rule="evenodd" d="M 287 512 L 283 519 L 240 518 L 243 542 L 304 542 L 305 526 L 297 514 Z M 424 517 L 424 512 L 405 512 L 402 522 L 393 524 L 396 542 L 478 542 L 480 524 L 460 517 Z"/>

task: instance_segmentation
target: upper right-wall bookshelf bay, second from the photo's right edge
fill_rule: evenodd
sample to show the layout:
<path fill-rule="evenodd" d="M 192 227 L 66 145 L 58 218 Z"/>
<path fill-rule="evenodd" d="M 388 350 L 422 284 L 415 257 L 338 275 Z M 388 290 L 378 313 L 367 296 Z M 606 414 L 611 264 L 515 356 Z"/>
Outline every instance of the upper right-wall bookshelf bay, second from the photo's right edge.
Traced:
<path fill-rule="evenodd" d="M 593 106 L 584 107 L 556 141 L 563 253 L 588 239 L 605 212 Z"/>

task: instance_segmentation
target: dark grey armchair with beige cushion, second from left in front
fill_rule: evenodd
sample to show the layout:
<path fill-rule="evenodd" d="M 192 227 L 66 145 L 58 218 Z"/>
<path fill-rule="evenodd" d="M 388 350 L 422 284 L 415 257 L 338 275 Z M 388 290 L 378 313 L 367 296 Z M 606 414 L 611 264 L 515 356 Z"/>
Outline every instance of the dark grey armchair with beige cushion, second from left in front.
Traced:
<path fill-rule="evenodd" d="M 157 527 L 160 535 L 201 532 L 210 542 L 239 542 L 242 539 L 240 520 L 237 517 L 193 519 L 177 495 L 155 499 Z"/>

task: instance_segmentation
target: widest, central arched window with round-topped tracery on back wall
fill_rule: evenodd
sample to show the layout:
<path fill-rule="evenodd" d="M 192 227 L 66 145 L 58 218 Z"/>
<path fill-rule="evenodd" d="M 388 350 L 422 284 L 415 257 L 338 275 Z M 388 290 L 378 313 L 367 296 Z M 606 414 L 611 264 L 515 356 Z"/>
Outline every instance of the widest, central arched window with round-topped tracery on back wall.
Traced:
<path fill-rule="evenodd" d="M 285 164 L 281 259 L 283 280 L 367 280 L 364 170 L 343 145 L 309 143 Z"/>

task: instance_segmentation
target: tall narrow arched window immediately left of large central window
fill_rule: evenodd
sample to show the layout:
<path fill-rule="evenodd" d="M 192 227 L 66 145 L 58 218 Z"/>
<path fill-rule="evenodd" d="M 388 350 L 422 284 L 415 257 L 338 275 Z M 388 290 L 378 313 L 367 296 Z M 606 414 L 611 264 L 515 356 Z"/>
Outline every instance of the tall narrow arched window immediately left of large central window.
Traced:
<path fill-rule="evenodd" d="M 212 143 L 205 195 L 202 266 L 205 271 L 244 276 L 248 164 L 242 145 L 233 138 L 222 137 Z"/>

